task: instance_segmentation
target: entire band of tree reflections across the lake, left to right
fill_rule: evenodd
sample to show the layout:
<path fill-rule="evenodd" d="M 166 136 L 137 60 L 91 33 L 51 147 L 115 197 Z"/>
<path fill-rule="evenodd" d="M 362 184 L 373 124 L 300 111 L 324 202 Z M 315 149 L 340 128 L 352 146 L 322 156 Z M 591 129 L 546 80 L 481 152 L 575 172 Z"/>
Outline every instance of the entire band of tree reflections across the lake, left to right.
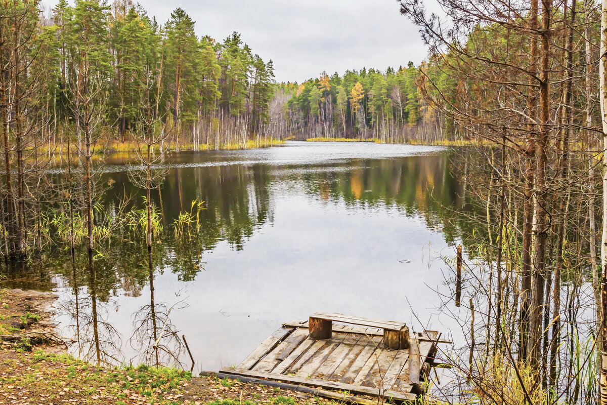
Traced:
<path fill-rule="evenodd" d="M 464 235 L 473 234 L 474 230 L 477 234 L 486 232 L 486 227 L 478 228 L 466 219 L 469 211 L 476 211 L 478 207 L 470 197 L 466 199 L 463 183 L 470 175 L 470 168 L 482 160 L 477 156 L 473 164 L 468 164 L 469 158 L 469 154 L 450 152 L 359 159 L 330 163 L 326 169 L 322 165 L 314 166 L 314 170 L 303 172 L 280 169 L 279 180 L 273 180 L 271 166 L 261 164 L 173 168 L 160 191 L 152 191 L 152 200 L 160 208 L 164 226 L 158 238 L 161 247 L 154 253 L 159 256 L 154 262 L 159 268 L 170 268 L 180 280 L 191 281 L 203 268 L 205 250 L 211 250 L 221 240 L 236 250 L 242 249 L 257 228 L 273 220 L 270 185 L 273 181 L 284 181 L 283 176 L 302 184 L 308 194 L 320 196 L 321 201 L 331 204 L 344 201 L 349 208 L 395 208 L 423 218 L 429 228 L 440 229 L 447 242 L 464 239 L 467 245 Z M 127 208 L 141 208 L 142 191 L 131 185 L 126 173 L 104 174 L 101 182 L 115 184 L 104 194 L 104 205 L 116 207 L 112 212 L 123 206 L 125 200 L 130 204 Z M 205 202 L 205 209 L 200 211 L 200 228 L 177 237 L 171 230 L 172 223 L 180 212 L 189 209 L 192 200 Z M 148 285 L 147 274 L 137 270 L 141 260 L 146 260 L 140 255 L 139 236 L 129 236 L 132 230 L 126 228 L 117 230 L 114 237 L 103 243 L 100 247 L 103 257 L 95 260 L 104 264 L 103 283 L 97 286 L 101 296 L 109 296 L 116 288 L 129 296 L 139 296 Z M 47 253 L 44 268 L 49 270 L 36 274 L 29 265 L 26 269 L 32 274 L 28 274 L 27 279 L 44 281 L 51 288 L 53 283 L 47 271 L 59 268 L 64 275 L 72 273 L 65 256 L 63 250 Z M 13 271 L 13 279 L 22 271 L 26 270 Z M 80 285 L 86 284 L 83 280 Z"/>

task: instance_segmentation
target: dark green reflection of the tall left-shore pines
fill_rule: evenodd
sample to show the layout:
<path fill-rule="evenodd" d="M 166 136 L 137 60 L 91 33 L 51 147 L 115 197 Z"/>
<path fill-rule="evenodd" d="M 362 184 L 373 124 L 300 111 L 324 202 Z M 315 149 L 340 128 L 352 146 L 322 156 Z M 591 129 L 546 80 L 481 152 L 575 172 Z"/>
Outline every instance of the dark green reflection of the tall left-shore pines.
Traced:
<path fill-rule="evenodd" d="M 106 177 L 123 185 L 123 189 L 117 187 L 107 196 L 111 201 L 123 199 L 124 193 L 136 196 L 141 192 L 129 184 L 125 173 L 106 174 Z M 268 165 L 172 169 L 160 192 L 152 193 L 152 200 L 161 208 L 164 225 L 171 224 L 179 213 L 189 209 L 192 200 L 204 201 L 206 209 L 200 213 L 202 226 L 198 240 L 192 241 L 197 243 L 192 246 L 194 251 L 180 249 L 166 237 L 165 246 L 180 249 L 184 259 L 214 248 L 220 240 L 227 240 L 237 250 L 242 249 L 254 230 L 271 220 L 269 185 Z"/>

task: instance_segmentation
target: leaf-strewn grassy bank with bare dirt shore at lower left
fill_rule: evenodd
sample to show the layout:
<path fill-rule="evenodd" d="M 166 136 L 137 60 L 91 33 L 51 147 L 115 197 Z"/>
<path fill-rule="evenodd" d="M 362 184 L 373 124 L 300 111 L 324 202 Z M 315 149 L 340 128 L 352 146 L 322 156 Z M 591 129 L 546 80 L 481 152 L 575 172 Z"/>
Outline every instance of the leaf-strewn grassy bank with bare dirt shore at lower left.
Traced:
<path fill-rule="evenodd" d="M 0 289 L 0 404 L 313 405 L 333 401 L 260 384 L 196 377 L 168 367 L 97 367 L 50 336 L 55 296 Z M 47 343 L 47 344 L 45 344 Z"/>

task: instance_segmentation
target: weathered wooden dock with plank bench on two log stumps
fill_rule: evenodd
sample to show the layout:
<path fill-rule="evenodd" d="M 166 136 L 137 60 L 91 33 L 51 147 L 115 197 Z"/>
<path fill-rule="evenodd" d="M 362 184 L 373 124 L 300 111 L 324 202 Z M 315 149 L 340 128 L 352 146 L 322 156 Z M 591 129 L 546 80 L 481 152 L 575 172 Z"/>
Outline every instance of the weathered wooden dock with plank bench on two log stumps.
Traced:
<path fill-rule="evenodd" d="M 283 324 L 239 366 L 220 373 L 316 387 L 314 395 L 361 404 L 413 401 L 439 342 L 446 341 L 438 332 L 409 333 L 404 322 L 314 313 Z"/>

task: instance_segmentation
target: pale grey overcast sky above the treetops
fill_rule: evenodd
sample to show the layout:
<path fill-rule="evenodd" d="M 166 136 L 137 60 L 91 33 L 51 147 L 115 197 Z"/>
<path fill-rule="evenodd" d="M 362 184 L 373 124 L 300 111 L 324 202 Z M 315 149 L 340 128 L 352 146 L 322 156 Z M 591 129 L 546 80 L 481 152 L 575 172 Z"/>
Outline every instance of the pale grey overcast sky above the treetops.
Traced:
<path fill-rule="evenodd" d="M 134 1 L 135 2 L 135 1 Z M 47 8 L 56 0 L 44 0 Z M 72 1 L 73 3 L 73 1 Z M 232 31 L 263 60 L 274 61 L 277 81 L 304 81 L 320 72 L 405 66 L 426 57 L 418 29 L 396 0 L 141 0 L 158 22 L 177 7 L 198 35 L 219 41 Z"/>

